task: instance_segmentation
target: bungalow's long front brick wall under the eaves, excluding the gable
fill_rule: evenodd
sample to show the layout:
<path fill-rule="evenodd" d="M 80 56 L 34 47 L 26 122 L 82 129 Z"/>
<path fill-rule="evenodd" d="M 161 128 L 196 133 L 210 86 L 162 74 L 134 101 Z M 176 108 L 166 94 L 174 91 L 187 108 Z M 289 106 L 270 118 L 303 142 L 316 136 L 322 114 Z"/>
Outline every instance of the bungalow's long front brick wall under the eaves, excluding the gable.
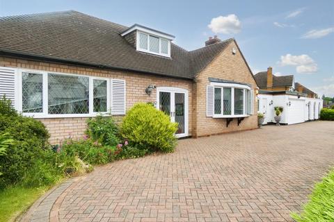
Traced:
<path fill-rule="evenodd" d="M 127 110 L 138 102 L 154 102 L 157 101 L 157 90 L 154 90 L 150 96 L 145 93 L 145 88 L 150 84 L 157 87 L 180 87 L 189 90 L 189 134 L 192 133 L 192 81 L 180 80 L 175 78 L 157 77 L 152 75 L 136 74 L 126 71 L 110 71 L 103 69 L 91 69 L 86 67 L 77 67 L 72 65 L 61 65 L 48 62 L 36 62 L 30 60 L 21 60 L 15 58 L 0 57 L 0 66 L 2 67 L 20 67 L 25 69 L 38 69 L 42 71 L 56 71 L 67 74 L 81 74 L 88 76 L 100 76 L 107 78 L 119 78 L 126 80 L 127 90 Z M 115 116 L 120 119 L 122 116 Z M 40 119 L 51 134 L 49 142 L 58 144 L 62 139 L 67 137 L 82 137 L 86 129 L 86 119 L 83 117 L 76 118 L 45 118 Z"/>

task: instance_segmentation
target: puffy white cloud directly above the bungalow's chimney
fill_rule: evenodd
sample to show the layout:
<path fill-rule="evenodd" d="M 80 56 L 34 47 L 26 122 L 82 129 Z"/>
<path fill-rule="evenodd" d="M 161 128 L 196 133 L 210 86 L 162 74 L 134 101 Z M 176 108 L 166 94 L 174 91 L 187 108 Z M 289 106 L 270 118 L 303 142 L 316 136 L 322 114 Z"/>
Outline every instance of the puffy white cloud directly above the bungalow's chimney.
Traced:
<path fill-rule="evenodd" d="M 214 33 L 237 34 L 241 31 L 241 22 L 237 15 L 218 16 L 211 20 L 208 27 Z"/>

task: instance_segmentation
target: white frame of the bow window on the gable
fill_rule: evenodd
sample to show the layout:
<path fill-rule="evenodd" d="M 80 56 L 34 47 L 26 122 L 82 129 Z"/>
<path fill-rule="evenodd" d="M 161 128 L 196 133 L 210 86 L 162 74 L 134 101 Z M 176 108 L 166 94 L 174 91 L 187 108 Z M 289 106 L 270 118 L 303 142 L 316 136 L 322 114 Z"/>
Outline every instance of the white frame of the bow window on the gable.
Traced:
<path fill-rule="evenodd" d="M 236 117 L 249 117 L 250 114 L 247 114 L 247 108 L 246 108 L 246 90 L 251 90 L 248 85 L 242 85 L 237 83 L 210 83 L 215 88 L 221 88 L 221 114 L 213 114 L 213 118 L 236 118 Z M 230 115 L 224 115 L 223 114 L 223 98 L 224 98 L 224 90 L 223 88 L 231 88 L 231 114 Z M 244 108 L 243 108 L 243 114 L 234 114 L 234 89 L 244 89 Z M 214 90 L 213 90 L 214 91 Z M 251 103 L 250 103 L 251 104 Z M 213 103 L 214 106 L 214 103 Z M 214 110 L 214 107 L 213 107 Z"/>

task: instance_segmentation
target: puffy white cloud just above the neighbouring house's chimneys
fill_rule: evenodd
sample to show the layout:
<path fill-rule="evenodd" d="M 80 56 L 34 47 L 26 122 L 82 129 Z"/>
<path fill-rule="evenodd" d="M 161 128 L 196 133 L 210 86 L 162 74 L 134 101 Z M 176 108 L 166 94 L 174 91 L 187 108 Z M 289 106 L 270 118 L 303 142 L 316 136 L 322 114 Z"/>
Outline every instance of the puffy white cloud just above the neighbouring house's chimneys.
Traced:
<path fill-rule="evenodd" d="M 282 66 L 294 66 L 296 67 L 296 72 L 299 74 L 312 74 L 318 70 L 317 63 L 308 55 L 292 56 L 291 54 L 287 54 L 280 56 L 278 64 Z"/>

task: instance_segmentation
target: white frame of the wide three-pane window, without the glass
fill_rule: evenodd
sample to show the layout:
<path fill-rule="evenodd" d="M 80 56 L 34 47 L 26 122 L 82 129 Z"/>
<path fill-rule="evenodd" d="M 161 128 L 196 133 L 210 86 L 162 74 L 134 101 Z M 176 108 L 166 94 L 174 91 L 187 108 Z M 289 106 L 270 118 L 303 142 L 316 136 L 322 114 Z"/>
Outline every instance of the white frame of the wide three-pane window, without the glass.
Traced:
<path fill-rule="evenodd" d="M 42 103 L 43 112 L 22 112 L 22 73 L 33 73 L 43 75 L 43 86 L 42 86 Z M 48 75 L 49 74 L 59 74 L 63 76 L 82 76 L 89 78 L 89 112 L 87 114 L 49 114 L 48 113 Z M 93 112 L 93 80 L 106 80 L 107 95 L 106 95 L 106 112 Z M 17 82 L 15 84 L 15 91 L 17 92 L 17 110 L 22 112 L 24 116 L 33 117 L 36 119 L 40 118 L 66 118 L 66 117 L 96 117 L 99 114 L 104 114 L 106 116 L 111 116 L 111 80 L 113 78 L 104 78 L 98 76 L 88 76 L 80 74 L 67 74 L 57 71 L 40 71 L 36 69 L 17 69 Z M 126 89 L 125 89 L 126 90 Z M 126 98 L 125 98 L 126 100 Z M 125 101 L 126 104 L 126 101 Z"/>

